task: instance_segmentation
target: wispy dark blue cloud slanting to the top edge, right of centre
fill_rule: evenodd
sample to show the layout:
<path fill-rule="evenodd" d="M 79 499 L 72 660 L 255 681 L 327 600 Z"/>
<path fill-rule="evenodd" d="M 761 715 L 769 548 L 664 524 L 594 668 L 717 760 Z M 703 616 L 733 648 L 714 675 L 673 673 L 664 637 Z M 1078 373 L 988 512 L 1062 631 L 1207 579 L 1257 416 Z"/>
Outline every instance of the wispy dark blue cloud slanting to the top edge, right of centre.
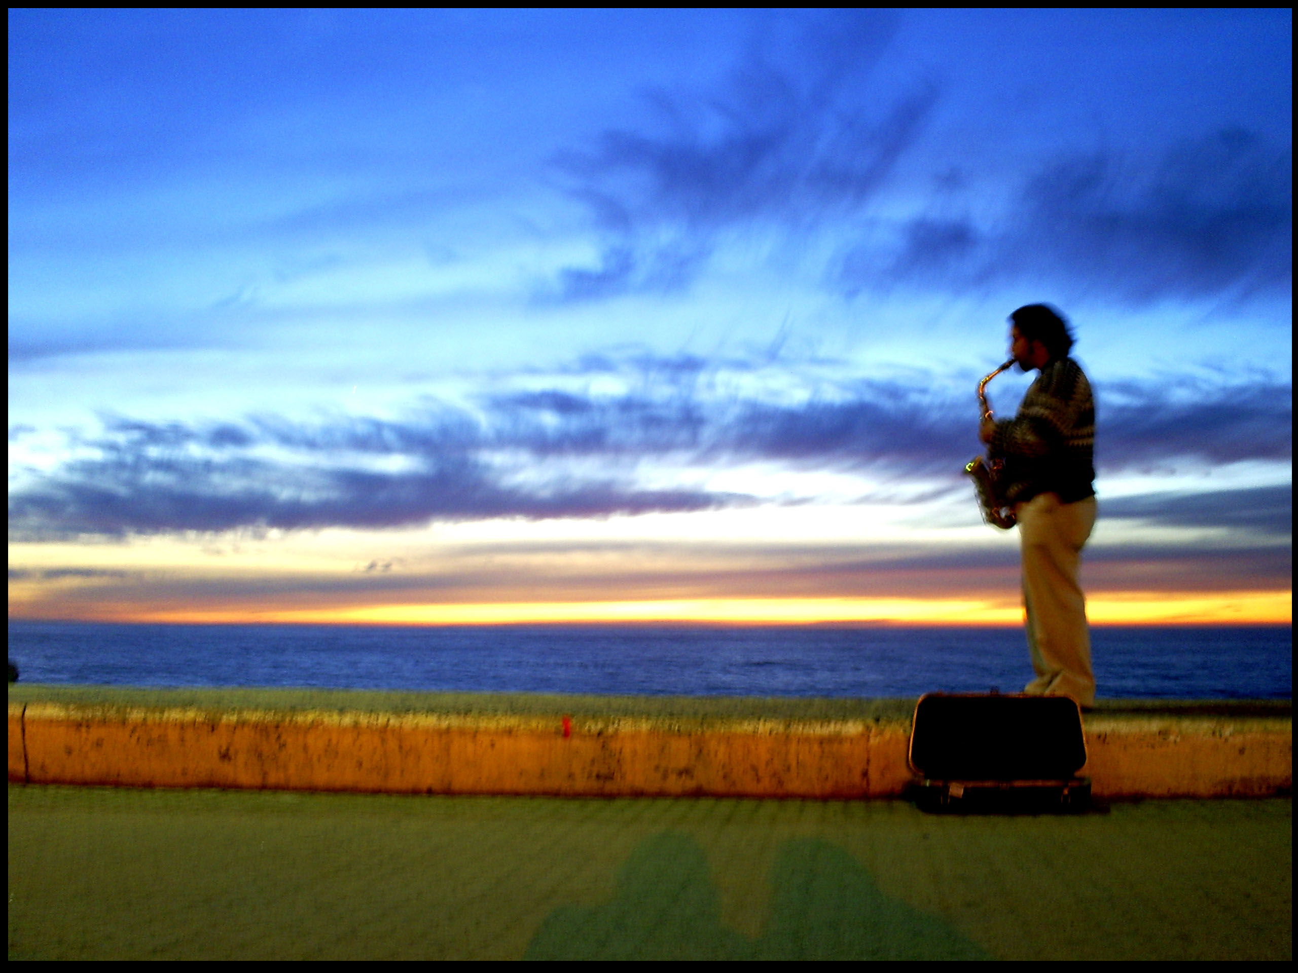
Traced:
<path fill-rule="evenodd" d="M 752 51 L 715 91 L 650 91 L 657 125 L 606 130 L 593 145 L 559 153 L 563 188 L 605 244 L 598 266 L 565 269 L 548 296 L 678 289 L 726 230 L 811 228 L 858 211 L 937 100 L 932 86 L 885 102 L 864 88 L 896 29 L 883 12 L 784 17 L 768 30 L 794 38 L 787 49 Z"/>

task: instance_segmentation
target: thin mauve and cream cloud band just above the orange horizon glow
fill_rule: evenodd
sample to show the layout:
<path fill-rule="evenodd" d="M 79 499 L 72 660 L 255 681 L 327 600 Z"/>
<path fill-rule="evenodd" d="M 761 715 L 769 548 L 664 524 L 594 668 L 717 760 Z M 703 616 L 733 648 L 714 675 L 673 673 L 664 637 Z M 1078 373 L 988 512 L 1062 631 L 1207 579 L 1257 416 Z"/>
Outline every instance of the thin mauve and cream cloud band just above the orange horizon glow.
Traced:
<path fill-rule="evenodd" d="M 29 616 L 95 616 L 103 606 L 195 610 L 208 606 L 267 611 L 337 605 L 537 601 L 654 601 L 665 598 L 1019 598 L 1019 563 L 997 545 L 918 545 L 842 549 L 837 545 L 654 542 L 565 545 L 488 544 L 448 549 L 435 563 L 384 571 L 249 572 L 219 563 L 184 571 L 10 571 L 29 583 Z M 1108 592 L 1286 592 L 1288 547 L 1094 546 L 1084 559 L 1092 595 Z M 16 579 L 14 575 L 21 575 Z M 40 577 L 44 573 L 47 577 Z M 57 584 L 43 584 L 57 576 Z"/>

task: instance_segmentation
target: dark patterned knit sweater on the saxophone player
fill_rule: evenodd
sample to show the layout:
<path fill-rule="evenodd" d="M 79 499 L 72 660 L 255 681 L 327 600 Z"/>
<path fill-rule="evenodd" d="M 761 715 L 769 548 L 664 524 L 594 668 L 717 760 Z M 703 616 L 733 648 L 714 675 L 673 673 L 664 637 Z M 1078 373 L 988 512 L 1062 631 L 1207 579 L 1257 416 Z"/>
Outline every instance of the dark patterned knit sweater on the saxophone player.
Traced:
<path fill-rule="evenodd" d="M 1058 493 L 1064 503 L 1096 496 L 1096 401 L 1072 358 L 1041 370 L 1012 419 L 996 423 L 988 455 L 1005 459 L 1005 498 L 1023 503 Z"/>

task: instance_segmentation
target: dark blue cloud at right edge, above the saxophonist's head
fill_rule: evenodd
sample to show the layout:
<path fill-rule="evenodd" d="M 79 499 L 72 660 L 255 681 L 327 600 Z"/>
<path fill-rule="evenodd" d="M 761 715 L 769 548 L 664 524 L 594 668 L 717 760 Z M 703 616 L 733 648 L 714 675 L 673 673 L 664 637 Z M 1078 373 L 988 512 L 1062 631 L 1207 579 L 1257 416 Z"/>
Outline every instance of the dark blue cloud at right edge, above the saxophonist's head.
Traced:
<path fill-rule="evenodd" d="M 846 253 L 849 292 L 905 283 L 968 291 L 1049 283 L 1068 296 L 1284 294 L 1292 285 L 1293 157 L 1243 128 L 1145 162 L 1076 153 L 1027 174 L 997 218 L 925 213 Z"/>

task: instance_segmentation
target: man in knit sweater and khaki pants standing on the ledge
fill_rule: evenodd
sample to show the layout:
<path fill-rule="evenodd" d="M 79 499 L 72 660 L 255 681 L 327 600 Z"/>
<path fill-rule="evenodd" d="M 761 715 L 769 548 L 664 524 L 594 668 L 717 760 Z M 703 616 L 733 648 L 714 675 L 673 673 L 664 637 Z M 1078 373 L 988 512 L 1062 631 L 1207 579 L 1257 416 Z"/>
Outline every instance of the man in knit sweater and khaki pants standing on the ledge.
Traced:
<path fill-rule="evenodd" d="M 1049 305 L 1010 315 L 1010 355 L 1041 374 L 1018 414 L 984 416 L 980 438 L 1003 459 L 999 486 L 1012 506 L 1023 554 L 1023 603 L 1036 679 L 1024 693 L 1096 702 L 1086 602 L 1079 581 L 1081 549 L 1096 523 L 1096 406 L 1081 366 L 1068 357 L 1073 337 Z"/>

